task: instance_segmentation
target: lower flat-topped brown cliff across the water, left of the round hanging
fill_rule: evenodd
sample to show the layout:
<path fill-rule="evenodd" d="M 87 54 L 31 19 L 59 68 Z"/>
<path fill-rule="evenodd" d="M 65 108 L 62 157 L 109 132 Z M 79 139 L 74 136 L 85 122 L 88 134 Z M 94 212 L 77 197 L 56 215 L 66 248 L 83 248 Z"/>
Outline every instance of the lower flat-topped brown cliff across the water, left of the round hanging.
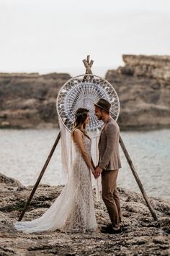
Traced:
<path fill-rule="evenodd" d="M 56 98 L 69 74 L 0 73 L 0 127 L 58 127 Z"/>

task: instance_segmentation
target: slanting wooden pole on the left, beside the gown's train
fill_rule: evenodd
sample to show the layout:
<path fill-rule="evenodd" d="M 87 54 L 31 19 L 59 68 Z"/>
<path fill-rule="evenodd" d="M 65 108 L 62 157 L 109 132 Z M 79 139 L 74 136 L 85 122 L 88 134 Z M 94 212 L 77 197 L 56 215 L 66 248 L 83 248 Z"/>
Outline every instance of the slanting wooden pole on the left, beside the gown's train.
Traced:
<path fill-rule="evenodd" d="M 35 194 L 35 191 L 36 191 L 36 189 L 37 189 L 37 186 L 38 186 L 38 184 L 40 183 L 40 180 L 42 179 L 43 174 L 45 173 L 45 170 L 46 170 L 46 168 L 47 168 L 47 166 L 48 166 L 48 163 L 50 162 L 50 158 L 52 157 L 52 155 L 53 155 L 53 153 L 54 153 L 54 150 L 55 150 L 56 146 L 58 145 L 58 141 L 60 140 L 60 138 L 61 138 L 61 132 L 58 133 L 58 137 L 57 137 L 57 139 L 55 140 L 55 143 L 54 143 L 54 145 L 53 145 L 53 148 L 50 150 L 50 153 L 49 153 L 49 155 L 48 155 L 48 158 L 47 158 L 47 160 L 45 161 L 45 164 L 44 164 L 44 166 L 43 166 L 43 168 L 42 168 L 42 171 L 40 172 L 39 177 L 37 178 L 37 182 L 35 183 L 35 186 L 34 186 L 33 189 L 32 189 L 32 192 L 31 192 L 31 194 L 30 194 L 30 197 L 28 198 L 27 202 L 26 202 L 25 205 L 24 205 L 24 209 L 22 210 L 22 213 L 21 213 L 21 215 L 19 216 L 19 220 L 18 220 L 18 221 L 21 221 L 21 220 L 22 220 L 22 218 L 23 218 L 23 216 L 24 216 L 24 213 L 25 213 L 25 211 L 27 210 L 27 207 L 28 207 L 28 205 L 30 204 L 33 195 Z"/>

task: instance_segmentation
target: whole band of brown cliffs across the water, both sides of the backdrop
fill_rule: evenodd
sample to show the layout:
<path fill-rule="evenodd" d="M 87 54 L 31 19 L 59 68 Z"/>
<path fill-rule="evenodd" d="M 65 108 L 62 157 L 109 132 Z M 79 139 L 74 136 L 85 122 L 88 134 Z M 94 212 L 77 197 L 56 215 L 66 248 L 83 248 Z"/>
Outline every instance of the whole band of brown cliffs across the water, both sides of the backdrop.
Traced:
<path fill-rule="evenodd" d="M 170 127 L 170 56 L 122 59 L 125 65 L 105 77 L 120 98 L 120 128 Z M 0 73 L 0 128 L 58 127 L 55 100 L 70 78 L 58 73 Z"/>

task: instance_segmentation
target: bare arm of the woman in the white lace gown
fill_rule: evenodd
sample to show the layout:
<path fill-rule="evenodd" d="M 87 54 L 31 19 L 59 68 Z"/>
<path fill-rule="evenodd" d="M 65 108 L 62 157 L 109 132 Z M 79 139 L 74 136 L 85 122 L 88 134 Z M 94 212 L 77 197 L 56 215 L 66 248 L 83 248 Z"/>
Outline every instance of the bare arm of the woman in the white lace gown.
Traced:
<path fill-rule="evenodd" d="M 81 155 L 83 156 L 87 166 L 91 169 L 92 173 L 94 174 L 94 167 L 91 163 L 91 159 L 89 158 L 89 154 L 86 152 L 86 149 L 84 148 L 83 135 L 79 129 L 76 129 L 74 131 L 73 140 L 74 142 L 76 142 L 76 145 L 78 145 L 79 150 L 81 151 Z"/>

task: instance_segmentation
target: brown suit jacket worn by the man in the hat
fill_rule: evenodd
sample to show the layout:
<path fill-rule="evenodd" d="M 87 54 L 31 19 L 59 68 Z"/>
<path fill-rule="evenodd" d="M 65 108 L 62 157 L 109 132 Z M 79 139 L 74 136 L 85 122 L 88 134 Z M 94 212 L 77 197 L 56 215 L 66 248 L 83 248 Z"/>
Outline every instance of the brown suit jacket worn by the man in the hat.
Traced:
<path fill-rule="evenodd" d="M 105 171 L 121 168 L 119 138 L 120 128 L 117 122 L 110 118 L 104 124 L 99 137 L 99 167 Z"/>

